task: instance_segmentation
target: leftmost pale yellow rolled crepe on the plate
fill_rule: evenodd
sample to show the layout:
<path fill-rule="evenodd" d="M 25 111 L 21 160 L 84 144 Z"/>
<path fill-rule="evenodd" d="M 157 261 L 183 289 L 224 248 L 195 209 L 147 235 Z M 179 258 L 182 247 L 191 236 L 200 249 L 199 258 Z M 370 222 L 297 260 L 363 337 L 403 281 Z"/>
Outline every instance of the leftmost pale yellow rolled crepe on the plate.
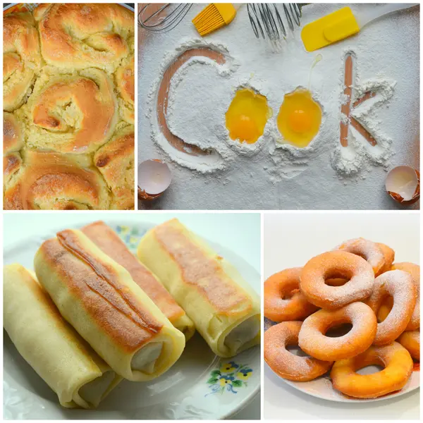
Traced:
<path fill-rule="evenodd" d="M 63 407 L 97 407 L 122 380 L 61 317 L 30 271 L 3 271 L 4 329 Z"/>

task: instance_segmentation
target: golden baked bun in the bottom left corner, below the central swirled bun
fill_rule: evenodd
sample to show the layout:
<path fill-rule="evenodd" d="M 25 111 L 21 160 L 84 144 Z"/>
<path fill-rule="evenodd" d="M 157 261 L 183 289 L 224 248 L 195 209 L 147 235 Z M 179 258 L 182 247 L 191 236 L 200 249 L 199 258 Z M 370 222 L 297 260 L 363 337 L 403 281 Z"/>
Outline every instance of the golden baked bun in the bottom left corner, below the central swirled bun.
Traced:
<path fill-rule="evenodd" d="M 90 158 L 24 150 L 20 170 L 6 183 L 4 209 L 109 209 L 104 179 Z"/>

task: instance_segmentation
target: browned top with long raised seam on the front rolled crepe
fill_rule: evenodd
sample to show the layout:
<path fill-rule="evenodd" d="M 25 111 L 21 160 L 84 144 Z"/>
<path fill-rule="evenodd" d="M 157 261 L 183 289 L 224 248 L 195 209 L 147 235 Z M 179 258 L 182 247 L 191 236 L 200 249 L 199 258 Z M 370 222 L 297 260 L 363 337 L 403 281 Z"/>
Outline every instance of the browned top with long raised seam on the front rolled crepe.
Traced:
<path fill-rule="evenodd" d="M 44 260 L 107 336 L 133 352 L 159 333 L 163 325 L 119 281 L 113 267 L 92 255 L 73 231 L 57 236 L 42 245 Z"/>

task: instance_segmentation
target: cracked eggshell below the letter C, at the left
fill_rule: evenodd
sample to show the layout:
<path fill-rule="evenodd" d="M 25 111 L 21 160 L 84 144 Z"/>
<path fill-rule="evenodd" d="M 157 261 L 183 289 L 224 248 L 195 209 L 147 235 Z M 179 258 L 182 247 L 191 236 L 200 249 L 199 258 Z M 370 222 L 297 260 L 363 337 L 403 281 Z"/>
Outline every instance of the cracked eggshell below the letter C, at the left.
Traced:
<path fill-rule="evenodd" d="M 145 160 L 138 165 L 138 197 L 154 200 L 171 185 L 168 165 L 159 159 Z"/>

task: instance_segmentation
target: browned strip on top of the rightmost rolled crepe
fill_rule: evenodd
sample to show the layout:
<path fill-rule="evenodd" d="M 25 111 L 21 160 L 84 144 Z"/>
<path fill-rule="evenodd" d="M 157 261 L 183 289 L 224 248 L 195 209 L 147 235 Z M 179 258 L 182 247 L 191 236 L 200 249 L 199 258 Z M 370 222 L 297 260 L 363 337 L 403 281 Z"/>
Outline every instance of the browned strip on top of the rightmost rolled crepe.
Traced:
<path fill-rule="evenodd" d="M 216 259 L 209 259 L 175 220 L 154 228 L 154 236 L 180 269 L 183 281 L 197 291 L 221 314 L 234 315 L 252 308 L 250 298 L 229 278 Z"/>

